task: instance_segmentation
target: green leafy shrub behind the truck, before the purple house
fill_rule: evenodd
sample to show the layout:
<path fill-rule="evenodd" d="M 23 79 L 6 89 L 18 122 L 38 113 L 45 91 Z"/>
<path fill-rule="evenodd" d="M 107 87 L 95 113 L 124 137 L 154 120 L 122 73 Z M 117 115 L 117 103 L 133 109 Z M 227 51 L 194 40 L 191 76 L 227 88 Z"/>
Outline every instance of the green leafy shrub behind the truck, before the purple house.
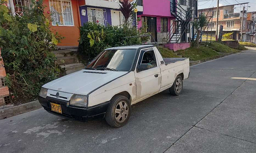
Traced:
<path fill-rule="evenodd" d="M 147 41 L 148 38 L 123 39 L 123 37 L 145 34 L 147 34 L 145 26 L 137 30 L 136 27 L 131 27 L 129 25 L 108 25 L 105 27 L 103 25 L 87 22 L 80 28 L 80 42 L 78 46 L 78 51 L 81 55 L 84 55 L 89 60 L 91 60 L 96 57 L 101 51 L 109 47 L 129 44 L 141 44 L 142 41 Z"/>

